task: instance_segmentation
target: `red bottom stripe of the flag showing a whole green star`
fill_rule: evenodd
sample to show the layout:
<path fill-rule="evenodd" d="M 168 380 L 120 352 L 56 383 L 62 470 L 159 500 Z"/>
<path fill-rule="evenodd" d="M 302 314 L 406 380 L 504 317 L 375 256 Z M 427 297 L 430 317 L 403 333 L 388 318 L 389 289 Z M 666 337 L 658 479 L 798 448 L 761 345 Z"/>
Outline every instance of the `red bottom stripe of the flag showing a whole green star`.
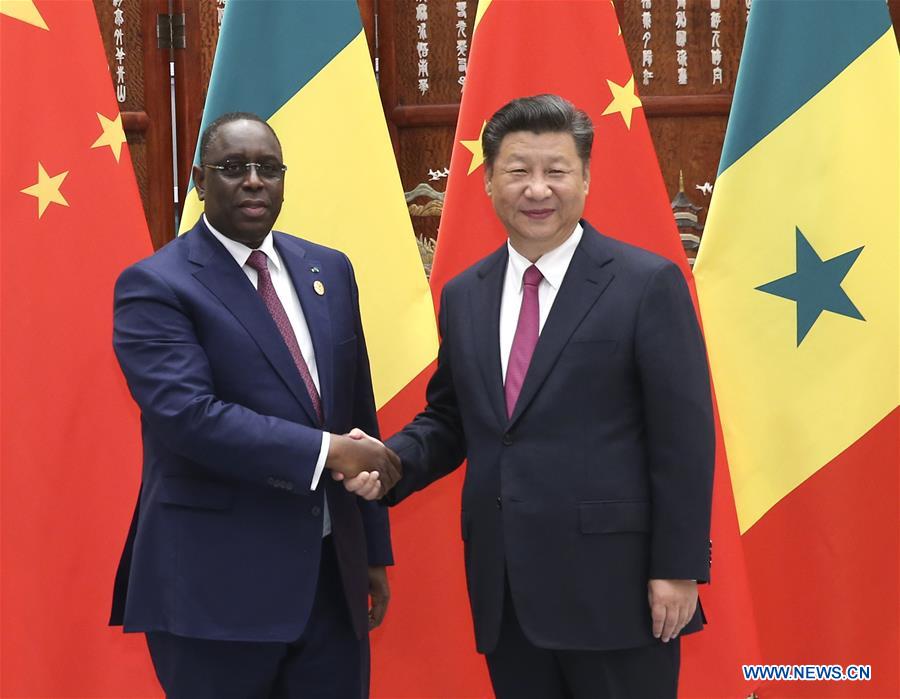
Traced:
<path fill-rule="evenodd" d="M 763 657 L 872 666 L 869 682 L 778 682 L 761 697 L 900 697 L 900 408 L 743 536 Z"/>

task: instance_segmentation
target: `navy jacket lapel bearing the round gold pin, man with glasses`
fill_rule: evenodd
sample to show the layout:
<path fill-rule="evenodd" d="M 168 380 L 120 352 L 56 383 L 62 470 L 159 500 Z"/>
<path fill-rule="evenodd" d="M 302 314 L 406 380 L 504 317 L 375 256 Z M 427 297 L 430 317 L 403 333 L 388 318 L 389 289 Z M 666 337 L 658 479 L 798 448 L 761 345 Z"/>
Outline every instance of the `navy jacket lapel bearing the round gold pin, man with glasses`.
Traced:
<path fill-rule="evenodd" d="M 326 279 L 328 279 L 327 270 L 324 269 L 319 260 L 308 257 L 302 248 L 299 248 L 299 254 L 295 248 L 297 246 L 281 245 L 278 238 L 275 238 L 275 247 L 278 248 L 278 254 L 287 267 L 288 274 L 297 291 L 297 297 L 300 299 L 300 306 L 303 308 L 303 316 L 306 318 L 306 325 L 309 328 L 309 334 L 312 336 L 313 351 L 316 353 L 316 372 L 319 375 L 319 398 L 322 402 L 322 415 L 325 423 L 328 423 L 328 416 L 334 406 L 334 338 L 331 328 L 331 314 L 329 313 L 329 305 L 331 296 L 327 293 Z M 313 270 L 319 270 L 314 272 Z M 315 292 L 313 284 L 321 281 L 326 286 L 326 293 L 319 295 Z M 304 393 L 306 393 L 304 389 Z M 307 395 L 308 398 L 308 395 Z M 309 403 L 309 410 L 312 412 L 312 403 Z"/>

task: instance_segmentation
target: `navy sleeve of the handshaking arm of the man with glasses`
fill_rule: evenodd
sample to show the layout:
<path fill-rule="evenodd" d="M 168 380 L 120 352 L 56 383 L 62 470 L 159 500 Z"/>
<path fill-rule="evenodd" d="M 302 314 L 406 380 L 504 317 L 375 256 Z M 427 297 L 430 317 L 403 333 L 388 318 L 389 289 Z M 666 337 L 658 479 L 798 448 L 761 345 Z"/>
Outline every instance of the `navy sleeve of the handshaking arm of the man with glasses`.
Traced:
<path fill-rule="evenodd" d="M 322 432 L 220 400 L 192 319 L 161 275 L 140 264 L 122 273 L 113 328 L 144 429 L 166 448 L 223 479 L 264 486 L 273 477 L 312 480 Z"/>

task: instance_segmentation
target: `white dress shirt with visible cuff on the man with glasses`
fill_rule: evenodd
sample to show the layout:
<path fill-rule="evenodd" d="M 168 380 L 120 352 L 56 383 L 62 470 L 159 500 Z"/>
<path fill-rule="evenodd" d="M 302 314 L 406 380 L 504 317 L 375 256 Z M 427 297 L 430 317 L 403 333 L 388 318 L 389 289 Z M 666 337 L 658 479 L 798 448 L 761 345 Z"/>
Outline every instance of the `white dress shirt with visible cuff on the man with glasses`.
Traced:
<path fill-rule="evenodd" d="M 206 214 L 203 214 L 203 223 L 206 224 L 206 227 L 209 228 L 210 232 L 216 237 L 216 240 L 222 243 L 225 249 L 231 254 L 235 262 L 237 262 L 238 266 L 243 270 L 244 274 L 247 275 L 247 279 L 250 280 L 250 283 L 253 284 L 254 288 L 258 288 L 257 278 L 259 277 L 259 274 L 247 264 L 250 253 L 253 252 L 254 248 L 248 248 L 243 243 L 239 243 L 231 238 L 226 238 L 213 228 L 209 219 L 206 218 Z M 275 293 L 278 295 L 278 300 L 281 301 L 281 305 L 284 306 L 284 312 L 287 314 L 288 320 L 291 323 L 291 328 L 294 330 L 294 336 L 297 338 L 297 344 L 300 345 L 303 359 L 306 360 L 306 366 L 309 367 L 310 376 L 312 376 L 313 383 L 316 385 L 316 390 L 319 392 L 319 395 L 321 395 L 322 389 L 319 385 L 319 372 L 316 368 L 316 353 L 313 350 L 312 335 L 309 333 L 309 326 L 306 324 L 306 316 L 303 315 L 303 307 L 300 305 L 300 298 L 297 296 L 297 290 L 294 288 L 293 282 L 291 282 L 291 275 L 288 274 L 287 268 L 281 260 L 281 256 L 275 249 L 275 242 L 272 239 L 271 231 L 269 231 L 269 234 L 263 239 L 259 248 L 256 249 L 265 253 L 268 258 L 269 276 L 272 278 L 272 286 L 275 287 Z M 316 486 L 319 484 L 322 471 L 325 469 L 325 460 L 328 457 L 328 448 L 330 446 L 331 434 L 323 431 L 322 446 L 319 449 L 319 458 L 316 461 L 316 469 L 313 473 L 312 483 L 309 487 L 310 490 L 315 490 Z M 328 534 L 331 533 L 331 515 L 328 512 L 327 497 L 325 498 L 325 506 L 322 510 L 322 536 L 328 536 Z"/>

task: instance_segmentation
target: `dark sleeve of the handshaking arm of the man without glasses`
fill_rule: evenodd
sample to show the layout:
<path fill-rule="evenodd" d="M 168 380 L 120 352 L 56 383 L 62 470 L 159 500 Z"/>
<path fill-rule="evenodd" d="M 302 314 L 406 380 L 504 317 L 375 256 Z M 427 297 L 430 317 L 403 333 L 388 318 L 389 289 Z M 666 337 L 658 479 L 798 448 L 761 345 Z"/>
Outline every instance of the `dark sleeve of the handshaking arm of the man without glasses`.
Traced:
<path fill-rule="evenodd" d="M 441 294 L 439 313 L 441 337 L 446 337 L 448 296 Z M 453 386 L 452 343 L 442 340 L 437 369 L 428 382 L 425 410 L 402 431 L 387 440 L 403 463 L 403 477 L 385 496 L 396 505 L 456 470 L 466 457 L 466 440 Z"/>

